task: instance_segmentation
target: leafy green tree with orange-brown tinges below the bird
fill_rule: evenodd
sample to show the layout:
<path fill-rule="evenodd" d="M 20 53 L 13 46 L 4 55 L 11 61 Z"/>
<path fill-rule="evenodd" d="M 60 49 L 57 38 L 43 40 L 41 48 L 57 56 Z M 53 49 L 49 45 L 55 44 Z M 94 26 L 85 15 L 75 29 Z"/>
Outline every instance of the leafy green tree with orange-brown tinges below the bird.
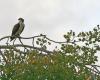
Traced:
<path fill-rule="evenodd" d="M 1 40 L 5 38 L 9 36 Z M 30 38 L 40 47 L 24 44 L 0 45 L 3 58 L 0 64 L 1 80 L 100 79 L 100 71 L 88 67 L 88 65 L 93 67 L 98 61 L 95 54 L 100 50 L 99 25 L 92 31 L 79 34 L 71 30 L 64 35 L 65 42 L 53 41 L 45 35 L 38 36 L 37 40 L 34 40 L 34 37 Z M 30 38 L 20 37 L 20 39 Z M 59 43 L 61 48 L 54 51 L 47 50 L 47 44 L 53 42 Z M 27 50 L 23 52 L 17 47 L 24 47 Z"/>

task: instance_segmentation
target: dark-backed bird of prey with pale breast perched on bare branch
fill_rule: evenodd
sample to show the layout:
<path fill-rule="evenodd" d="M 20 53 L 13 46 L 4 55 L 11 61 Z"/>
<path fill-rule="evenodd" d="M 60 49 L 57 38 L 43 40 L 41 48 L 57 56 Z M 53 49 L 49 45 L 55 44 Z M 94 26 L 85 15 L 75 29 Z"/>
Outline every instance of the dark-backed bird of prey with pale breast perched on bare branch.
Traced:
<path fill-rule="evenodd" d="M 17 24 L 15 24 L 14 27 L 13 27 L 12 34 L 11 34 L 11 37 L 10 37 L 10 41 L 16 39 L 17 37 L 20 37 L 20 34 L 24 30 L 24 27 L 25 27 L 24 19 L 19 18 L 18 20 L 19 20 L 19 22 Z"/>

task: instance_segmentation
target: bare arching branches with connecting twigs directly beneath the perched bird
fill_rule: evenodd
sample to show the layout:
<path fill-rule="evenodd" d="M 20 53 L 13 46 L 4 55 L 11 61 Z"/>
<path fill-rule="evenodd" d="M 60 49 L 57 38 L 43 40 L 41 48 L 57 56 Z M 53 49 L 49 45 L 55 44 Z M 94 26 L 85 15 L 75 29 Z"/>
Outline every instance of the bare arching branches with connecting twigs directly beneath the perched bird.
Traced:
<path fill-rule="evenodd" d="M 47 39 L 47 40 L 49 40 L 51 42 L 54 42 L 54 43 L 59 43 L 59 44 L 66 43 L 66 42 L 57 42 L 57 41 L 51 40 L 50 38 L 47 38 L 46 35 L 40 34 L 38 36 L 33 36 L 33 37 L 18 37 L 19 40 L 20 40 L 20 42 L 21 42 L 21 44 L 14 44 L 14 45 L 10 45 L 9 44 L 8 45 L 8 40 L 9 40 L 10 37 L 11 36 L 5 36 L 5 37 L 2 37 L 0 39 L 0 41 L 2 41 L 4 39 L 7 39 L 7 45 L 0 45 L 1 49 L 13 49 L 16 52 L 25 53 L 24 51 L 21 51 L 21 50 L 19 50 L 19 49 L 16 48 L 16 47 L 23 47 L 24 49 L 31 48 L 31 49 L 36 49 L 36 50 L 43 51 L 43 52 L 46 52 L 46 53 L 52 53 L 52 51 L 45 50 L 45 49 L 39 48 L 39 47 L 35 47 L 34 46 L 34 39 L 38 38 L 38 37 L 44 37 L 45 39 Z M 32 46 L 30 46 L 30 45 L 24 45 L 23 42 L 21 41 L 21 39 L 32 39 Z"/>

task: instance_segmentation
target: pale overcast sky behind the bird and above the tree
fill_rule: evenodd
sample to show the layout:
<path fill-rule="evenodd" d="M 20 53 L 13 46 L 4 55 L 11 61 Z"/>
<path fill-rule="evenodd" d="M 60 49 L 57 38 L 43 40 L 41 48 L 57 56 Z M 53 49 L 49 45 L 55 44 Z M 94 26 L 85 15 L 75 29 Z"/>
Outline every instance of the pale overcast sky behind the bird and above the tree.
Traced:
<path fill-rule="evenodd" d="M 22 36 L 46 34 L 63 40 L 69 30 L 88 31 L 100 24 L 100 0 L 0 0 L 0 37 L 10 35 L 22 17 Z"/>

